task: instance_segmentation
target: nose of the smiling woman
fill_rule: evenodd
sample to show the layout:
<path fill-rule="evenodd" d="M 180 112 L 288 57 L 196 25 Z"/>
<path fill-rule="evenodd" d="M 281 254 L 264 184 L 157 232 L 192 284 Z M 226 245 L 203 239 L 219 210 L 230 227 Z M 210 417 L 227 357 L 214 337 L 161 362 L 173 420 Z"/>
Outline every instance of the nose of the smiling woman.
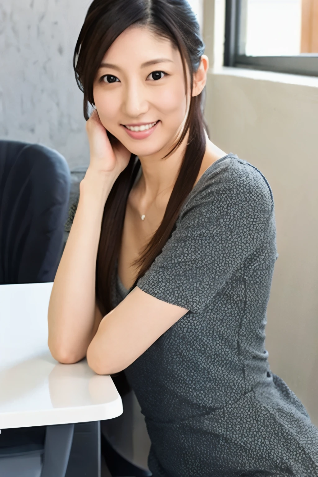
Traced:
<path fill-rule="evenodd" d="M 137 118 L 148 111 L 148 100 L 142 82 L 131 81 L 125 88 L 123 113 L 127 117 Z"/>

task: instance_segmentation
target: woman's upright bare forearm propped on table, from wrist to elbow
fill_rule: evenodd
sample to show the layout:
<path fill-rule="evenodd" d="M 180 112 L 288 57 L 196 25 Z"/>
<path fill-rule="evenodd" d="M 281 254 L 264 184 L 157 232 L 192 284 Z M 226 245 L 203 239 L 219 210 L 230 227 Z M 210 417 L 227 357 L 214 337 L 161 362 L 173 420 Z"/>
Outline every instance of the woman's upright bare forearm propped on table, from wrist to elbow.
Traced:
<path fill-rule="evenodd" d="M 57 270 L 48 311 L 49 347 L 62 362 L 82 359 L 97 330 L 95 269 L 103 209 L 113 176 L 88 170 L 69 238 Z"/>

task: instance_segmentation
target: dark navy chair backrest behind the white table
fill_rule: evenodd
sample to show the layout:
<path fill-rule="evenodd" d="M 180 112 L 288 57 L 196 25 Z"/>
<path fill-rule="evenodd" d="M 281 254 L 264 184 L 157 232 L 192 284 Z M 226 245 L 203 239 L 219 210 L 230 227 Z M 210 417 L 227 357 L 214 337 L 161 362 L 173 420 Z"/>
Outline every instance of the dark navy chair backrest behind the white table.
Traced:
<path fill-rule="evenodd" d="M 70 170 L 61 154 L 0 141 L 0 284 L 54 280 L 69 194 Z"/>

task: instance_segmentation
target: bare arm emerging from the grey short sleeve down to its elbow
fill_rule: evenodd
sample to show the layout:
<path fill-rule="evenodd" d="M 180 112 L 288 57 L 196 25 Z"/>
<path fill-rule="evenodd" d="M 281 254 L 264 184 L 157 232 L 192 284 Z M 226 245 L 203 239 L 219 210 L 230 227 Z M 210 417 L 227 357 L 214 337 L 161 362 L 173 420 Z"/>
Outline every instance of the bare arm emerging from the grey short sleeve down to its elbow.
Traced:
<path fill-rule="evenodd" d="M 98 374 L 122 371 L 187 311 L 134 288 L 104 316 L 88 347 L 88 364 Z"/>

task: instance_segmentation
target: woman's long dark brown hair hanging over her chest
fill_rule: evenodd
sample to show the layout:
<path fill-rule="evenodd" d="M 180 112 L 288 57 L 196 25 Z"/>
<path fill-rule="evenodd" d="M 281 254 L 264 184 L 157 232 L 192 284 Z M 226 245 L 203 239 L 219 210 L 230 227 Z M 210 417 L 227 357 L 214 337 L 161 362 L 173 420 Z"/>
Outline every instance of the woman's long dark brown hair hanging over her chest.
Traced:
<path fill-rule="evenodd" d="M 193 74 L 200 65 L 205 45 L 195 14 L 186 0 L 94 0 L 87 12 L 73 58 L 76 81 L 84 93 L 86 120 L 94 105 L 93 83 L 103 57 L 113 41 L 132 25 L 147 26 L 159 36 L 172 41 L 181 55 L 185 84 L 187 65 L 190 91 L 193 89 Z M 188 144 L 164 218 L 138 259 L 136 282 L 150 268 L 171 236 L 180 208 L 198 176 L 206 146 L 204 103 L 205 90 L 197 96 L 191 96 L 182 135 L 167 155 L 170 156 L 181 145 L 189 131 Z M 114 183 L 104 207 L 96 262 L 96 299 L 103 315 L 112 309 L 111 287 L 120 251 L 126 203 L 139 167 L 140 162 L 136 163 L 136 156 L 132 154 L 128 166 Z"/>

